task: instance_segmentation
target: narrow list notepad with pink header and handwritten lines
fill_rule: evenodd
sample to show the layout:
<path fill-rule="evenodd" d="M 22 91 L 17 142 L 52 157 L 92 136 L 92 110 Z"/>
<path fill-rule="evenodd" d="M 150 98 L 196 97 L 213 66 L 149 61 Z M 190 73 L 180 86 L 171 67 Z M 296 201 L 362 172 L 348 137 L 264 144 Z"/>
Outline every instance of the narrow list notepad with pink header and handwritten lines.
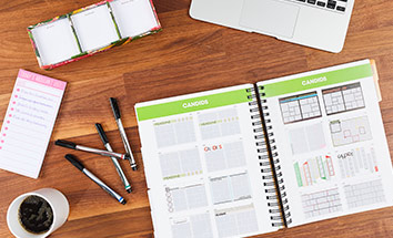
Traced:
<path fill-rule="evenodd" d="M 38 178 L 66 85 L 19 71 L 1 127 L 0 168 Z"/>

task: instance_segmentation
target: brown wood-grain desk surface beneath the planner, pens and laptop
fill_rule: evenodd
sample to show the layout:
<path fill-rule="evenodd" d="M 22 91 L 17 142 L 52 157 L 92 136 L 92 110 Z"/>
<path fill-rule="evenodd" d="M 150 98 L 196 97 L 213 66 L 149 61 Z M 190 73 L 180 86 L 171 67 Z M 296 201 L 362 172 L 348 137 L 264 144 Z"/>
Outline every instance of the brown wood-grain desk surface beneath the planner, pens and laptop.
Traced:
<path fill-rule="evenodd" d="M 18 69 L 69 82 L 39 179 L 0 170 L 0 237 L 11 237 L 6 214 L 22 193 L 53 187 L 68 197 L 68 223 L 51 237 L 152 237 L 147 184 L 140 154 L 137 102 L 193 93 L 319 68 L 375 59 L 383 95 L 381 110 L 393 149 L 393 1 L 357 0 L 344 50 L 332 54 L 192 20 L 190 0 L 154 0 L 163 31 L 105 53 L 46 72 L 39 69 L 26 28 L 98 0 L 14 0 L 0 4 L 0 117 L 11 95 Z M 71 166 L 53 146 L 58 138 L 100 147 L 94 123 L 108 130 L 115 151 L 123 151 L 108 99 L 120 100 L 123 123 L 140 165 L 123 168 L 134 192 L 128 195 L 110 162 L 74 153 L 128 199 L 121 206 Z M 1 158 L 0 158 L 1 159 Z M 385 208 L 260 237 L 393 237 L 393 208 Z"/>

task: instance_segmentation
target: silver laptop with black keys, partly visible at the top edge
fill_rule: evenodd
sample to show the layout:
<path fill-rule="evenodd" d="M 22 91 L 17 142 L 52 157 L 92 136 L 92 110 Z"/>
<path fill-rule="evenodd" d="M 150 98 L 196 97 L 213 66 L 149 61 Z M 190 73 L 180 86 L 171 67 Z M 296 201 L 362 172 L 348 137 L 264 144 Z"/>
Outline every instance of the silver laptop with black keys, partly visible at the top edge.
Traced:
<path fill-rule="evenodd" d="M 354 0 L 192 0 L 190 15 L 339 53 L 353 4 Z"/>

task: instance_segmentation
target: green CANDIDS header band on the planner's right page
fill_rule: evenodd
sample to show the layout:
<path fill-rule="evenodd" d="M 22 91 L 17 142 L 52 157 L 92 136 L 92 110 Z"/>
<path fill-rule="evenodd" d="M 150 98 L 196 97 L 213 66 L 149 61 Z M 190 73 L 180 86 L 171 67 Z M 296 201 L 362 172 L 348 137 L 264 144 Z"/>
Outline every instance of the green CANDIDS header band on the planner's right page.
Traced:
<path fill-rule="evenodd" d="M 304 90 L 312 90 L 331 84 L 342 83 L 346 81 L 360 80 L 373 75 L 370 64 L 362 64 L 342 70 L 330 71 L 325 73 L 303 76 L 293 80 L 285 80 L 278 83 L 263 85 L 264 96 L 262 99 L 284 95 Z"/>

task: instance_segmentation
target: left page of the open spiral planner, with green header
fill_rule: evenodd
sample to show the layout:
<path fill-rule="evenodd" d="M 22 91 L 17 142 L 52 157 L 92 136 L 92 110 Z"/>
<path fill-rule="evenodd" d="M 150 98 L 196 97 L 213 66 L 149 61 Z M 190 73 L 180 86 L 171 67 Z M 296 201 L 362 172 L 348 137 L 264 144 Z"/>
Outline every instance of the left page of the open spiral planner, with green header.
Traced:
<path fill-rule="evenodd" d="M 274 231 L 245 84 L 135 105 L 155 237 Z"/>

